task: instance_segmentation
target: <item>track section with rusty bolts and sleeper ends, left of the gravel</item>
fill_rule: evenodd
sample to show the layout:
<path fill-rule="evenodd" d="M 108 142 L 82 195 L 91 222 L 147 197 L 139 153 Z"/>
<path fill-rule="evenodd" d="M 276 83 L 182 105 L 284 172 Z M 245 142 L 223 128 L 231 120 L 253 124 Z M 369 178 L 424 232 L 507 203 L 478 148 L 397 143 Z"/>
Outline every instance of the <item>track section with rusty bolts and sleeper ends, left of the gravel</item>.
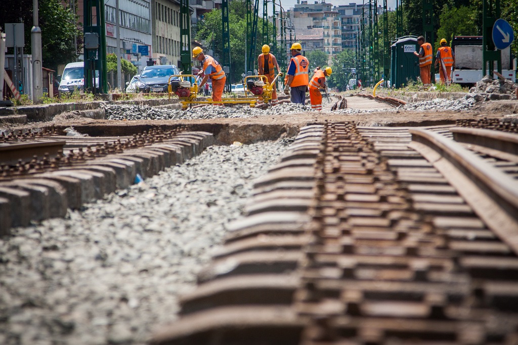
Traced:
<path fill-rule="evenodd" d="M 153 129 L 133 136 L 69 137 L 55 128 L 0 137 L 0 235 L 62 217 L 211 146 L 211 133 Z"/>

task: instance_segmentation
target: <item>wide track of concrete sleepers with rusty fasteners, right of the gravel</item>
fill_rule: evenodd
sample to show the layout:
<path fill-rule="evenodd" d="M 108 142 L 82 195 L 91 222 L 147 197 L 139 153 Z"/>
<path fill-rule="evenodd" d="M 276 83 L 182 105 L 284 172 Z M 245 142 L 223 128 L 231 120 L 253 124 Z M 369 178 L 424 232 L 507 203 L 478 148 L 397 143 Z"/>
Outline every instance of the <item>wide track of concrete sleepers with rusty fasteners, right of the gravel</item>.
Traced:
<path fill-rule="evenodd" d="M 516 136 L 491 132 L 301 129 L 151 343 L 515 343 Z"/>

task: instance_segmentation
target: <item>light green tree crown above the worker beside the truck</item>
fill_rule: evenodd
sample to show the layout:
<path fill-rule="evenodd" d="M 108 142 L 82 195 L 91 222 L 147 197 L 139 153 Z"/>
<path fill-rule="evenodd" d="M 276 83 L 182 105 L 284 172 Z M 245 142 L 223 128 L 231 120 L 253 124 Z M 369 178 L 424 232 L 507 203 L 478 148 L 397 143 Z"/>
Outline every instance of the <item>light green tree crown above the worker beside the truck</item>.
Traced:
<path fill-rule="evenodd" d="M 479 29 L 475 24 L 477 8 L 474 6 L 461 6 L 451 8 L 444 5 L 439 15 L 440 27 L 437 30 L 435 49 L 440 47 L 440 40 L 445 38 L 451 43 L 453 36 L 473 36 Z"/>

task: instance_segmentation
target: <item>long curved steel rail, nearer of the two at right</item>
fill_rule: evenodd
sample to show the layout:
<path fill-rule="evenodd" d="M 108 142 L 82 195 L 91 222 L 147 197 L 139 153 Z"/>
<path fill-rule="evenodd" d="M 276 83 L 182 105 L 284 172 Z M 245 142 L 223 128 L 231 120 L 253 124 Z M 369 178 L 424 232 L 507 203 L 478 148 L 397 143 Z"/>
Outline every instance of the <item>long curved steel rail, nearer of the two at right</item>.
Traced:
<path fill-rule="evenodd" d="M 440 134 L 422 129 L 410 133 L 409 147 L 433 164 L 487 227 L 518 254 L 518 183 Z"/>

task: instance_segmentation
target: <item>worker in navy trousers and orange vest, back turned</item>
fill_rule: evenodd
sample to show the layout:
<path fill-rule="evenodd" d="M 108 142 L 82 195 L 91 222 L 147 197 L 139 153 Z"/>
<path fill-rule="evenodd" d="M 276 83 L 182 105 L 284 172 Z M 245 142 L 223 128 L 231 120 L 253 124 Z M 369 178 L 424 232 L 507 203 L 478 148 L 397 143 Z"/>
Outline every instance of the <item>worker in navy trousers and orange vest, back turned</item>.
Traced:
<path fill-rule="evenodd" d="M 288 67 L 288 79 L 284 86 L 284 93 L 286 95 L 291 94 L 292 103 L 305 104 L 306 91 L 309 84 L 309 61 L 300 54 L 301 51 L 302 46 L 300 43 L 292 44 L 292 58 Z"/>

